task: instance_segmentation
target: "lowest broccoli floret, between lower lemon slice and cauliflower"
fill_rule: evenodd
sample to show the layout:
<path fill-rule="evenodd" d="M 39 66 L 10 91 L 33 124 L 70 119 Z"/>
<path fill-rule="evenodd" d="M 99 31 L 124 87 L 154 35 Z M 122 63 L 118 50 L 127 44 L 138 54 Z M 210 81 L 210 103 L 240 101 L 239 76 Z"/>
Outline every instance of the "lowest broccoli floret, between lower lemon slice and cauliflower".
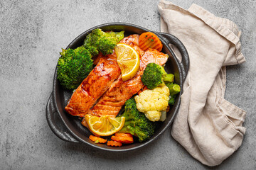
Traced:
<path fill-rule="evenodd" d="M 144 113 L 137 110 L 134 98 L 125 102 L 124 113 L 120 116 L 125 117 L 125 123 L 119 132 L 129 132 L 139 137 L 139 142 L 148 140 L 149 137 L 154 135 L 156 124 L 148 120 Z"/>

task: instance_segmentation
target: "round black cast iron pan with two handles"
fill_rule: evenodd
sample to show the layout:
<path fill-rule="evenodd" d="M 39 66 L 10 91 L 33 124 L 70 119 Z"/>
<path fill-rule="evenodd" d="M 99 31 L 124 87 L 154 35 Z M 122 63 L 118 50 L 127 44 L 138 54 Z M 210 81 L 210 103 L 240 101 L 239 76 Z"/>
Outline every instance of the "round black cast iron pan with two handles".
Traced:
<path fill-rule="evenodd" d="M 140 26 L 135 26 L 129 23 L 106 23 L 100 26 L 96 26 L 91 28 L 90 30 L 86 30 L 84 33 L 79 35 L 73 42 L 68 45 L 68 48 L 75 49 L 82 45 L 83 40 L 88 33 L 90 33 L 95 28 L 101 28 L 102 30 L 113 30 L 113 31 L 121 31 L 124 30 L 125 36 L 131 34 L 142 34 L 144 32 L 150 31 L 146 28 L 142 28 Z M 152 32 L 152 31 L 151 31 Z M 183 81 L 186 78 L 186 74 L 188 72 L 189 67 L 189 60 L 188 60 L 188 52 L 186 48 L 182 44 L 178 38 L 174 35 L 170 35 L 168 33 L 155 33 L 161 42 L 163 43 L 163 50 L 162 52 L 169 55 L 169 60 L 166 62 L 166 72 L 173 73 L 175 76 L 175 83 L 181 86 L 181 93 L 176 97 L 176 102 L 174 106 L 171 107 L 169 113 L 167 113 L 166 120 L 163 123 L 159 123 L 155 134 L 146 142 L 134 142 L 132 145 L 124 145 L 122 147 L 108 147 L 105 144 L 96 144 L 92 142 L 88 137 L 91 135 L 90 131 L 87 130 L 81 124 L 81 120 L 75 116 L 69 115 L 65 112 L 65 106 L 68 102 L 68 99 L 72 95 L 72 91 L 65 91 L 57 79 L 57 68 L 55 69 L 55 75 L 53 79 L 53 93 L 50 95 L 46 106 L 46 119 L 48 121 L 48 125 L 50 129 L 55 133 L 57 137 L 61 140 L 67 142 L 74 142 L 74 143 L 85 143 L 92 147 L 102 149 L 105 151 L 111 152 L 125 152 L 129 150 L 138 149 L 144 147 L 145 145 L 153 142 L 156 137 L 161 135 L 166 128 L 171 125 L 174 120 L 175 115 L 178 113 L 178 108 L 181 103 L 181 94 L 183 91 Z M 182 62 L 179 63 L 176 55 L 174 54 L 173 50 L 169 47 L 169 44 L 175 45 L 178 50 L 181 52 L 182 55 Z M 57 61 L 56 61 L 57 63 Z M 58 118 L 57 118 L 58 116 Z"/>

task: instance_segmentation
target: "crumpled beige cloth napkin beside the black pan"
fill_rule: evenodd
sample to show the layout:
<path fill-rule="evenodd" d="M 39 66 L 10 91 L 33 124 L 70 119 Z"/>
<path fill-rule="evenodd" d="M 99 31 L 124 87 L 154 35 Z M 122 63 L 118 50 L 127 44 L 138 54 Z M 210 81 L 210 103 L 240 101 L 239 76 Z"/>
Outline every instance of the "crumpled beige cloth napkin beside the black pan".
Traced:
<path fill-rule="evenodd" d="M 240 147 L 245 134 L 245 111 L 224 99 L 225 66 L 245 62 L 241 33 L 232 21 L 196 4 L 185 10 L 161 0 L 158 7 L 161 31 L 181 40 L 190 60 L 171 135 L 203 164 L 218 165 Z"/>

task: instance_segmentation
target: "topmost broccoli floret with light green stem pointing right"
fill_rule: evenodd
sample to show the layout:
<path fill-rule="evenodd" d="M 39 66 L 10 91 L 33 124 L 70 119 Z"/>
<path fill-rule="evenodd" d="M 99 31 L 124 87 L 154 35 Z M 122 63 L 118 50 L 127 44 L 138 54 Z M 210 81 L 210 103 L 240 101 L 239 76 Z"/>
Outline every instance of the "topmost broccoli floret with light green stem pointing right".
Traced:
<path fill-rule="evenodd" d="M 105 33 L 97 28 L 86 36 L 84 46 L 92 54 L 92 57 L 98 55 L 99 52 L 102 52 L 103 55 L 109 55 L 113 52 L 115 45 L 123 38 L 124 31 Z"/>

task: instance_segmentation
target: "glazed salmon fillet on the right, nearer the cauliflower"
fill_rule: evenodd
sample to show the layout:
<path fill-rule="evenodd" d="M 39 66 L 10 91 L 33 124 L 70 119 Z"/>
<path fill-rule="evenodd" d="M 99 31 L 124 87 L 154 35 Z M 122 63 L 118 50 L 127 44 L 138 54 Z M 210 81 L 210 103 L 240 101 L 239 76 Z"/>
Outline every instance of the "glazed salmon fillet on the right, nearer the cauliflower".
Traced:
<path fill-rule="evenodd" d="M 137 74 L 127 81 L 122 81 L 120 76 L 110 86 L 110 89 L 97 101 L 97 104 L 90 109 L 88 113 L 92 115 L 113 115 L 116 116 L 124 105 L 125 101 L 144 87 L 141 77 L 146 65 L 154 62 L 164 65 L 168 59 L 168 55 L 158 50 L 150 49 L 144 52 L 140 59 L 139 71 Z"/>

